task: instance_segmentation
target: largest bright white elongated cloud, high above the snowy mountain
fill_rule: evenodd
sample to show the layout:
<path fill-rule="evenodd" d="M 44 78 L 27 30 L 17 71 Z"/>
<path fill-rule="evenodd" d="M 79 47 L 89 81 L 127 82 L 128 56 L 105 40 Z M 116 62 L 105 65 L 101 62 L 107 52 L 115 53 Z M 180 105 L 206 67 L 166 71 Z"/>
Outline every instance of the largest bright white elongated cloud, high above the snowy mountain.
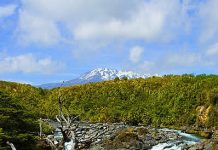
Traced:
<path fill-rule="evenodd" d="M 132 10 L 133 7 L 128 9 Z M 179 16 L 181 10 L 178 1 L 138 1 L 133 10 L 130 12 L 124 10 L 128 14 L 126 17 L 112 16 L 103 21 L 94 19 L 79 22 L 78 26 L 72 29 L 75 39 L 143 39 L 151 41 L 166 37 L 163 36 L 163 33 L 168 34 L 167 32 L 174 28 L 176 17 L 181 17 Z M 175 12 L 177 12 L 176 16 L 174 16 Z"/>

